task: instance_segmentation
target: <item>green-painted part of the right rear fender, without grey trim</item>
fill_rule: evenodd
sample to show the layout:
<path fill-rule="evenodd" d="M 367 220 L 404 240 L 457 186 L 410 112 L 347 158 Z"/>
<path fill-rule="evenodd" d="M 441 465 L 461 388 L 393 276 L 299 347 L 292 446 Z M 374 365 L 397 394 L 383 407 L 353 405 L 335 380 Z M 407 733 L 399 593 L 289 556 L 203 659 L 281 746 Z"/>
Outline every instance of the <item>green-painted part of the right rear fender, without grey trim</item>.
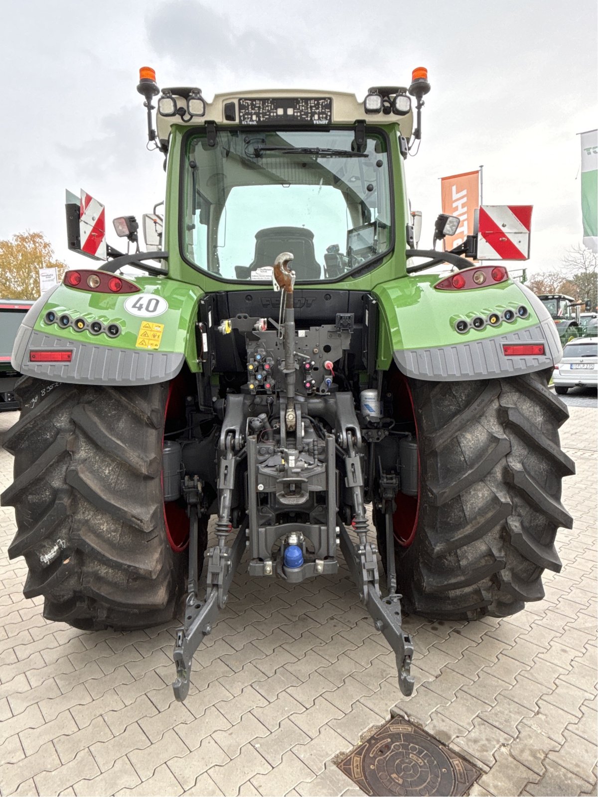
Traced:
<path fill-rule="evenodd" d="M 389 367 L 393 351 L 464 344 L 474 339 L 517 332 L 539 323 L 533 307 L 516 282 L 507 280 L 474 289 L 435 289 L 434 285 L 441 278 L 438 273 L 413 274 L 377 285 L 373 290 L 380 303 L 382 318 L 378 368 L 385 370 Z M 506 308 L 517 311 L 520 304 L 529 309 L 529 316 L 525 319 L 516 317 L 508 324 L 503 321 L 498 327 L 486 325 L 482 330 L 469 329 L 462 334 L 454 328 L 460 318 L 486 318 L 491 312 L 500 313 Z"/>

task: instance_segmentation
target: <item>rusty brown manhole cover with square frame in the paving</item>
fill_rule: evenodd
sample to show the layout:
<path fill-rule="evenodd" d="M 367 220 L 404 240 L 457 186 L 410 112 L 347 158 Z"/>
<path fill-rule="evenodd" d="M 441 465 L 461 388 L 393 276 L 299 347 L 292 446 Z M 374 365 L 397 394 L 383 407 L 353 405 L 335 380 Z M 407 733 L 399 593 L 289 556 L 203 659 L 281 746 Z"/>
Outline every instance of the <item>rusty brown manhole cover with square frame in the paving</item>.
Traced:
<path fill-rule="evenodd" d="M 480 774 L 421 728 L 390 720 L 338 768 L 367 795 L 464 795 Z"/>

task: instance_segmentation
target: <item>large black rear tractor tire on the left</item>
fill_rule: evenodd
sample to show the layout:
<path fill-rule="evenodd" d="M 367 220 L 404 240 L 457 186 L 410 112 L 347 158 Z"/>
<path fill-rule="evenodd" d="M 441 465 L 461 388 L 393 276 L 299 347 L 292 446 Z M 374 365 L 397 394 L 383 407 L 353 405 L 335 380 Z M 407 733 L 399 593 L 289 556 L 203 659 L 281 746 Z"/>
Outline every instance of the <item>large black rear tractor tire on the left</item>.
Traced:
<path fill-rule="evenodd" d="M 22 413 L 3 440 L 14 454 L 17 534 L 26 598 L 81 629 L 146 628 L 170 620 L 187 552 L 167 539 L 162 445 L 168 383 L 87 387 L 22 378 Z M 184 425 L 184 424 L 183 424 Z"/>

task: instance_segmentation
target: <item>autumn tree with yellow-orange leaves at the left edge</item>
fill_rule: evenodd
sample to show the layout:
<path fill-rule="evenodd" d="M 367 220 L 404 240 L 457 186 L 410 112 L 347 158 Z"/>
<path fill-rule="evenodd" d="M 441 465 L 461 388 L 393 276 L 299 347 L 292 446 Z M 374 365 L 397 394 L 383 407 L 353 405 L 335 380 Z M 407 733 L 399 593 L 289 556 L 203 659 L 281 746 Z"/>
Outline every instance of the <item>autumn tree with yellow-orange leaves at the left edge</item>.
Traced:
<path fill-rule="evenodd" d="M 39 269 L 58 269 L 58 279 L 66 265 L 54 260 L 54 250 L 43 233 L 17 233 L 10 241 L 0 241 L 0 297 L 36 299 L 39 296 Z"/>

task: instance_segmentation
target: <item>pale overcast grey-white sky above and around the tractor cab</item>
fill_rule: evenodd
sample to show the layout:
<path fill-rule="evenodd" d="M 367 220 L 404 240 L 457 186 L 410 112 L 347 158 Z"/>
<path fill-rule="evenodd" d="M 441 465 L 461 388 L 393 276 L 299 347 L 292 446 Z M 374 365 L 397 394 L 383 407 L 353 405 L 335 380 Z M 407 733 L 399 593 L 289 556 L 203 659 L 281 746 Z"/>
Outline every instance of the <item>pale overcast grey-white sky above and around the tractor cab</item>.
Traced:
<path fill-rule="evenodd" d="M 163 198 L 139 68 L 216 92 L 408 85 L 426 66 L 407 188 L 431 245 L 439 177 L 484 164 L 484 201 L 533 204 L 532 271 L 581 242 L 580 142 L 596 128 L 595 0 L 0 0 L 0 239 L 41 230 L 69 265 L 65 188 L 140 218 Z M 108 241 L 116 245 L 116 236 Z"/>

